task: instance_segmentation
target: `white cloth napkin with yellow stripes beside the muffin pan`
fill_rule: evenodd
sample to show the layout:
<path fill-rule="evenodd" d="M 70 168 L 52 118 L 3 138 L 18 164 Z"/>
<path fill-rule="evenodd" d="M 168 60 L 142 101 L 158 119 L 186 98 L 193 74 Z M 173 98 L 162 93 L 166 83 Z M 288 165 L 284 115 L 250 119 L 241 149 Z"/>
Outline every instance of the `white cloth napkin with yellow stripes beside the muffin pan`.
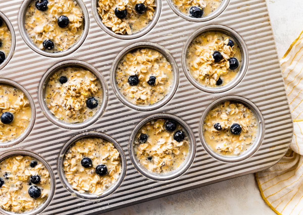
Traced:
<path fill-rule="evenodd" d="M 271 168 L 256 173 L 262 198 L 277 214 L 303 214 L 303 32 L 281 59 L 294 121 L 288 153 Z"/>

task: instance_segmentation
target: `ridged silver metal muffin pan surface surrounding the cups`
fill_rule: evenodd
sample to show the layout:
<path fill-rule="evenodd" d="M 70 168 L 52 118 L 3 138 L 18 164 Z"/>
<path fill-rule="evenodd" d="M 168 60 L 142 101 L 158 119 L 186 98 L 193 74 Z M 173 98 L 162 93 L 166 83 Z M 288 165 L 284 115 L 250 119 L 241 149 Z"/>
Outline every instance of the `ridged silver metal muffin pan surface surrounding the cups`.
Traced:
<path fill-rule="evenodd" d="M 44 159 L 55 176 L 55 193 L 48 206 L 40 214 L 99 214 L 105 211 L 129 206 L 135 203 L 163 197 L 199 186 L 231 179 L 259 170 L 264 170 L 282 158 L 292 138 L 292 120 L 281 76 L 281 68 L 275 47 L 270 19 L 265 0 L 223 1 L 220 14 L 191 22 L 178 16 L 171 9 L 170 0 L 156 1 L 159 7 L 158 21 L 145 35 L 117 38 L 109 35 L 96 22 L 91 0 L 84 0 L 88 12 L 85 25 L 86 38 L 80 47 L 64 56 L 45 56 L 31 49 L 22 39 L 18 26 L 18 13 L 23 0 L 0 0 L 0 10 L 11 22 L 15 31 L 15 51 L 7 65 L 0 70 L 0 78 L 9 79 L 24 87 L 35 103 L 36 119 L 30 134 L 15 146 L 0 149 L 4 154 L 10 150 L 26 150 Z M 170 4 L 171 5 L 171 4 Z M 83 5 L 82 5 L 83 6 Z M 225 8 L 226 6 L 226 8 Z M 158 15 L 155 15 L 157 18 Z M 206 92 L 198 89 L 188 80 L 182 69 L 182 50 L 192 34 L 209 25 L 223 25 L 230 28 L 232 38 L 242 44 L 247 64 L 242 68 L 237 83 L 231 89 L 220 92 Z M 226 28 L 227 27 L 227 28 Z M 103 26 L 104 28 L 104 26 Z M 242 42 L 241 42 L 242 41 Z M 170 55 L 178 76 L 176 92 L 161 107 L 138 110 L 125 105 L 111 85 L 111 69 L 116 57 L 135 43 L 161 49 Z M 159 47 L 162 48 L 159 48 Z M 163 49 L 164 47 L 164 49 Z M 38 101 L 38 88 L 42 76 L 58 62 L 77 60 L 90 64 L 104 77 L 108 88 L 108 102 L 97 120 L 85 128 L 66 129 L 55 125 L 43 114 Z M 199 125 L 205 110 L 218 99 L 232 98 L 251 104 L 261 122 L 258 141 L 249 156 L 229 162 L 215 158 L 203 147 L 199 136 Z M 195 142 L 193 162 L 181 176 L 170 180 L 153 180 L 140 173 L 132 163 L 128 145 L 133 130 L 140 122 L 155 114 L 178 117 L 191 129 L 188 134 Z M 165 115 L 167 116 L 167 115 Z M 181 122 L 181 121 L 180 121 Z M 58 159 L 65 144 L 83 132 L 100 132 L 113 138 L 122 148 L 126 159 L 125 178 L 117 190 L 100 199 L 84 199 L 72 195 L 58 175 Z M 202 140 L 203 141 L 203 140 Z"/>

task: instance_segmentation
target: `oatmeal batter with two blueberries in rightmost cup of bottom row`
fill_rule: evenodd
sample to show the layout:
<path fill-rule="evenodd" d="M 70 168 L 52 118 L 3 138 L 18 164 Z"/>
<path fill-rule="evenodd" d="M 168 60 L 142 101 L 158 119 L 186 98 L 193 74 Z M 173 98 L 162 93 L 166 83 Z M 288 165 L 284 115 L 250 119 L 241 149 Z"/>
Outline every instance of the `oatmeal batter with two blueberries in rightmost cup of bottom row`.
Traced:
<path fill-rule="evenodd" d="M 234 123 L 241 126 L 238 135 L 231 133 Z M 216 105 L 203 123 L 205 142 L 214 152 L 225 156 L 244 153 L 255 142 L 257 133 L 258 121 L 254 113 L 241 103 L 227 101 Z"/>

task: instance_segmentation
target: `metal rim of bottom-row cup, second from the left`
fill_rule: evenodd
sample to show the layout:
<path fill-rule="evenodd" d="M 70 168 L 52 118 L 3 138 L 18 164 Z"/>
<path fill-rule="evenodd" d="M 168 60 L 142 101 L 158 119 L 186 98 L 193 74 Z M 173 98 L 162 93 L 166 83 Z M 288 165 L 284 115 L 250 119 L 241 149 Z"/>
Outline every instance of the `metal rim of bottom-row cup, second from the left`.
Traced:
<path fill-rule="evenodd" d="M 78 139 L 82 139 L 82 138 L 86 138 L 86 137 L 98 137 L 98 138 L 102 138 L 107 140 L 108 142 L 111 142 L 116 149 L 118 150 L 118 152 L 120 153 L 120 158 L 121 158 L 121 168 L 122 171 L 119 175 L 119 179 L 107 190 L 105 190 L 104 193 L 102 193 L 102 195 L 94 195 L 94 194 L 88 194 L 88 193 L 79 193 L 77 190 L 74 190 L 72 188 L 72 186 L 68 183 L 68 181 L 66 180 L 65 174 L 63 172 L 63 160 L 65 157 L 65 153 L 66 151 L 69 149 L 69 147 L 75 143 Z M 59 155 L 59 159 L 58 159 L 58 175 L 59 178 L 62 182 L 62 184 L 65 186 L 65 188 L 73 194 L 75 194 L 77 197 L 83 198 L 83 199 L 88 199 L 88 200 L 95 200 L 95 199 L 101 199 L 103 197 L 106 197 L 110 194 L 112 194 L 113 192 L 115 192 L 119 186 L 121 185 L 121 183 L 123 182 L 125 175 L 126 175 L 126 158 L 125 158 L 125 154 L 123 152 L 123 149 L 121 148 L 121 146 L 110 136 L 107 136 L 106 134 L 103 133 L 98 133 L 98 132 L 86 132 L 86 133 L 81 133 L 78 134 L 77 136 L 74 136 L 72 139 L 70 139 L 64 146 L 63 149 L 60 152 Z"/>

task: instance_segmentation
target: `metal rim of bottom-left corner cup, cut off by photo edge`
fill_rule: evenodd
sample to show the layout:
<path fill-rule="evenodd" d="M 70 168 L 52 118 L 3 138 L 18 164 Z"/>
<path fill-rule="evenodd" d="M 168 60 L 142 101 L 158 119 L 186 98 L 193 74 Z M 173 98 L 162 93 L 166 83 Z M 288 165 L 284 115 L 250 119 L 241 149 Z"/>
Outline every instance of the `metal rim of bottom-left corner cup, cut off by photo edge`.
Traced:
<path fill-rule="evenodd" d="M 13 212 L 7 211 L 7 210 L 3 209 L 2 207 L 0 207 L 0 211 L 2 213 L 8 214 L 8 215 L 16 215 L 16 214 L 35 215 L 35 214 L 38 214 L 38 213 L 42 212 L 42 210 L 44 210 L 48 206 L 48 204 L 51 202 L 51 200 L 54 196 L 54 193 L 55 193 L 55 176 L 54 176 L 54 173 L 52 172 L 52 168 L 48 165 L 48 163 L 42 157 L 38 156 L 35 153 L 25 151 L 25 150 L 13 150 L 13 151 L 6 152 L 5 154 L 2 154 L 0 156 L 0 162 L 2 162 L 5 158 L 8 158 L 8 157 L 13 156 L 13 155 L 30 156 L 30 157 L 33 157 L 33 158 L 37 159 L 41 163 L 43 163 L 43 165 L 48 170 L 48 173 L 49 173 L 49 176 L 50 176 L 51 189 L 50 189 L 50 193 L 49 193 L 47 199 L 45 200 L 45 202 L 42 203 L 39 207 L 37 207 L 35 210 L 29 211 L 29 212 L 26 212 L 26 213 L 13 213 Z"/>

